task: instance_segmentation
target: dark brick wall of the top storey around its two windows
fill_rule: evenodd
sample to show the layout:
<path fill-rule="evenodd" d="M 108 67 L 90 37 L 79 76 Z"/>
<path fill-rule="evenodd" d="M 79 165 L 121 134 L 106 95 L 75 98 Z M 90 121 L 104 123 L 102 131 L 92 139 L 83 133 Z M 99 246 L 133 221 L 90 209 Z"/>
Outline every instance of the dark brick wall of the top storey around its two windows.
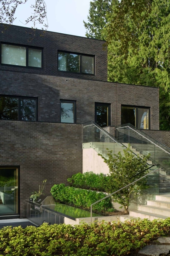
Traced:
<path fill-rule="evenodd" d="M 107 51 L 104 49 L 103 46 L 105 41 L 83 38 L 74 35 L 65 35 L 49 31 L 45 32 L 43 37 L 40 36 L 41 34 L 42 30 L 37 30 L 34 37 L 32 29 L 20 26 L 9 26 L 7 30 L 4 30 L 3 25 L 0 24 L 1 42 L 42 47 L 44 49 L 44 67 L 42 70 L 24 67 L 9 67 L 3 65 L 0 65 L 0 70 L 20 71 L 41 75 L 43 74 L 52 76 L 76 77 L 80 79 L 90 80 L 108 80 Z M 58 50 L 95 55 L 95 76 L 58 72 Z"/>

